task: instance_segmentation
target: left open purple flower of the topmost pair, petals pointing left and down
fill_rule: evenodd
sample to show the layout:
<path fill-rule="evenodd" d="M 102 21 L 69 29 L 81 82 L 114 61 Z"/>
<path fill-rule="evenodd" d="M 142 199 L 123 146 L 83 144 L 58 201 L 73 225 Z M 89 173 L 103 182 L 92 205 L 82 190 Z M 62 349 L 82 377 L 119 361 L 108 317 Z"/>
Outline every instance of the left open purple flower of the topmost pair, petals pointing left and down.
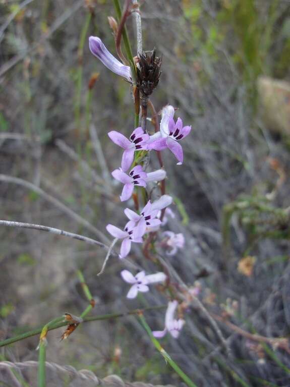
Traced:
<path fill-rule="evenodd" d="M 116 132 L 115 130 L 109 132 L 108 136 L 112 142 L 125 149 L 121 164 L 123 172 L 126 172 L 130 168 L 134 159 L 135 150 L 147 149 L 147 142 L 149 140 L 149 135 L 144 134 L 141 127 L 134 130 L 129 140 L 122 133 Z"/>

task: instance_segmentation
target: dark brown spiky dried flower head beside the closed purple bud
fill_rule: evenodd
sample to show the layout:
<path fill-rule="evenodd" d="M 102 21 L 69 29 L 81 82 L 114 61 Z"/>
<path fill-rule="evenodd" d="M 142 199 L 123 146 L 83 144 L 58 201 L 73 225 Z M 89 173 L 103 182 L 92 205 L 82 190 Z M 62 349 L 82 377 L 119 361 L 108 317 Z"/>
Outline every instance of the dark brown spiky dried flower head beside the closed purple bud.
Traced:
<path fill-rule="evenodd" d="M 156 48 L 153 51 L 144 51 L 138 54 L 137 87 L 141 93 L 148 97 L 158 85 L 161 75 L 161 57 L 156 57 Z"/>

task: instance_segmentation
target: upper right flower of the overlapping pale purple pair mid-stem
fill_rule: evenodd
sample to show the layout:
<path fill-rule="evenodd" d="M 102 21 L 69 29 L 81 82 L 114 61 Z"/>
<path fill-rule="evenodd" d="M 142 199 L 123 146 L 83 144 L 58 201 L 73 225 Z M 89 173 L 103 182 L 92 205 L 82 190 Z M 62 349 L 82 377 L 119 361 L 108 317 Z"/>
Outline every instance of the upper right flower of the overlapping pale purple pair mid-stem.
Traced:
<path fill-rule="evenodd" d="M 135 223 L 133 231 L 134 237 L 142 237 L 147 228 L 156 227 L 161 224 L 161 220 L 156 218 L 159 210 L 167 207 L 172 203 L 172 198 L 169 195 L 162 195 L 158 200 L 151 204 L 150 200 L 141 210 L 140 215 L 130 208 L 125 209 L 126 216 Z"/>

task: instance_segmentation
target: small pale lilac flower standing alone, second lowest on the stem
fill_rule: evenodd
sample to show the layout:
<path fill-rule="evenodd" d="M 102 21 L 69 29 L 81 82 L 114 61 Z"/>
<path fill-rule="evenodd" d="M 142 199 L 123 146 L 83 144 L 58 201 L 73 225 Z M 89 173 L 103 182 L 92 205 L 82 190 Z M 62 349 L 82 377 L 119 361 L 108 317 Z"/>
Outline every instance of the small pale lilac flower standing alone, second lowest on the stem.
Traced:
<path fill-rule="evenodd" d="M 129 270 L 122 270 L 121 275 L 124 281 L 132 285 L 127 294 L 127 298 L 135 298 L 138 292 L 148 292 L 149 284 L 166 280 L 166 275 L 162 272 L 145 275 L 145 271 L 140 271 L 134 276 Z"/>

